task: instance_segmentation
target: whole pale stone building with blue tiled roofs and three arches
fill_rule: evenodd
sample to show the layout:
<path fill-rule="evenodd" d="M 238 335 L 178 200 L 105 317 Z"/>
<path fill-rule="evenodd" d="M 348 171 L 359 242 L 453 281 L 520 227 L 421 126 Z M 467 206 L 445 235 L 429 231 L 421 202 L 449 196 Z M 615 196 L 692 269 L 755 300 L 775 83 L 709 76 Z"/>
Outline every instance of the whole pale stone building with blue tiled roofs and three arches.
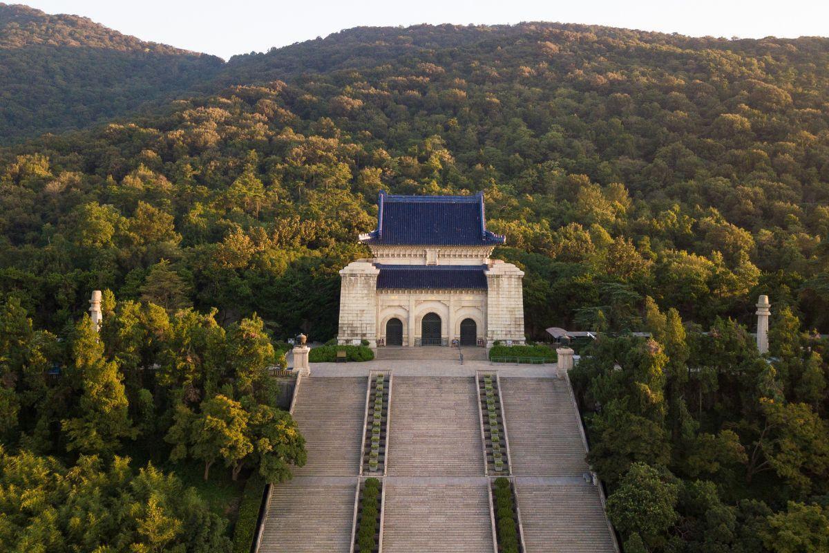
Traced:
<path fill-rule="evenodd" d="M 505 238 L 487 230 L 483 194 L 380 193 L 371 259 L 340 271 L 341 344 L 492 347 L 524 343 L 524 273 L 491 260 Z"/>

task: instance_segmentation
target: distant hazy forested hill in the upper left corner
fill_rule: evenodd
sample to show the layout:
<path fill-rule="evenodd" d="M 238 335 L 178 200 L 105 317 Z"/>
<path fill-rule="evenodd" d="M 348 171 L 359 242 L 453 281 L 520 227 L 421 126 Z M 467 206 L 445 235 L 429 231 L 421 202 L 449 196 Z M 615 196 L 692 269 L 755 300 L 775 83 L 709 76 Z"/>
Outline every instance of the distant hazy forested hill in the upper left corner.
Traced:
<path fill-rule="evenodd" d="M 85 17 L 0 3 L 0 143 L 129 114 L 193 90 L 221 65 Z"/>

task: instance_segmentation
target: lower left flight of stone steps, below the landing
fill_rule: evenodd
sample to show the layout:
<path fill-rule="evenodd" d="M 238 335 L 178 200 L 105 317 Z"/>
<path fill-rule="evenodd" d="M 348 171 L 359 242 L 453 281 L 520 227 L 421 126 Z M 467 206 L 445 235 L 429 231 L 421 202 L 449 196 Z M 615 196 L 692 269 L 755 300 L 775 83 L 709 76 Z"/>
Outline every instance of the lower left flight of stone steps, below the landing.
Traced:
<path fill-rule="evenodd" d="M 348 553 L 355 493 L 356 478 L 351 485 L 275 484 L 259 553 Z"/>

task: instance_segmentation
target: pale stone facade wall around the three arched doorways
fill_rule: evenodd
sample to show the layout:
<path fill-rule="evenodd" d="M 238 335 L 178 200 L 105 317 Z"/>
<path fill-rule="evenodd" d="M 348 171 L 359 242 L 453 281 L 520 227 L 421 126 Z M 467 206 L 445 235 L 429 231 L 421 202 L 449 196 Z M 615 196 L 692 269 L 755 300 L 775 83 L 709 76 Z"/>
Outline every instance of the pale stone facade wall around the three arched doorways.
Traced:
<path fill-rule="evenodd" d="M 441 335 L 447 343 L 460 339 L 461 321 L 475 321 L 477 338 L 487 337 L 487 293 L 484 290 L 378 290 L 377 337 L 385 340 L 391 318 L 403 323 L 403 345 L 414 346 L 420 338 L 424 315 L 440 317 Z"/>

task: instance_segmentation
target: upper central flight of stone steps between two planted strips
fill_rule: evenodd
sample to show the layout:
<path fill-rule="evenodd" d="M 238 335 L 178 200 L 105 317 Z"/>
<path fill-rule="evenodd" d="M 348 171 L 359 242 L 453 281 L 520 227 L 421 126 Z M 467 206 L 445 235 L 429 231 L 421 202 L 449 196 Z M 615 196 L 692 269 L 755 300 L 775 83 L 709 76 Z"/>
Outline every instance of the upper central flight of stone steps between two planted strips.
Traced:
<path fill-rule="evenodd" d="M 390 476 L 482 476 L 478 394 L 472 376 L 395 376 Z"/>

